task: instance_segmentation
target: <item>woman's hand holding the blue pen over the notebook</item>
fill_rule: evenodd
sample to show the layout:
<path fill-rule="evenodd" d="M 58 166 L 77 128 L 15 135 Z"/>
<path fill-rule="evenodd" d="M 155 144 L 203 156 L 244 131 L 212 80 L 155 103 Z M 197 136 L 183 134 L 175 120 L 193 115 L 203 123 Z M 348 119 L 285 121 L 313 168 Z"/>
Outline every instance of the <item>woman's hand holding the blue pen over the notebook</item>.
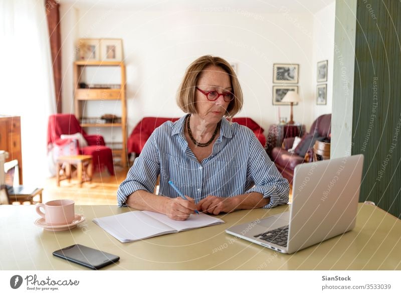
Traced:
<path fill-rule="evenodd" d="M 189 215 L 194 214 L 196 205 L 192 198 L 185 196 L 188 200 L 184 200 L 180 197 L 175 199 L 167 198 L 167 202 L 164 205 L 164 214 L 174 220 L 186 220 Z"/>

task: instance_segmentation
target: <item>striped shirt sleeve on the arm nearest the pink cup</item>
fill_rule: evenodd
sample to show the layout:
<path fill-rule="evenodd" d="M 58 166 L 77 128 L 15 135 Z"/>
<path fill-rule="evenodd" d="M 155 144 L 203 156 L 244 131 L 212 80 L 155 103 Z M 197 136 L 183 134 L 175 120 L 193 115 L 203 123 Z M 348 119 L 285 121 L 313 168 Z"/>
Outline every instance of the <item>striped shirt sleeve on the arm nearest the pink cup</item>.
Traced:
<path fill-rule="evenodd" d="M 153 193 L 157 176 L 160 172 L 159 151 L 155 142 L 155 132 L 146 141 L 139 157 L 128 171 L 127 178 L 117 190 L 117 203 L 119 207 L 126 207 L 129 195 L 138 190 Z"/>

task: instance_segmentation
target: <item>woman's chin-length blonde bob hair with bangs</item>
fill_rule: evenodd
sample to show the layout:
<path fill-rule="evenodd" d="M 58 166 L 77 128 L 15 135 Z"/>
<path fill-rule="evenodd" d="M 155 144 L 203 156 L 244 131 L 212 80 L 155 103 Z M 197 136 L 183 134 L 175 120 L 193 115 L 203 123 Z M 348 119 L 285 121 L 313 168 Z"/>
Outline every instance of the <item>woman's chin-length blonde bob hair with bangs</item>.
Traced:
<path fill-rule="evenodd" d="M 182 78 L 181 85 L 177 93 L 177 104 L 185 113 L 196 113 L 195 109 L 195 91 L 196 85 L 203 70 L 208 66 L 217 66 L 222 68 L 230 76 L 231 86 L 233 87 L 234 99 L 227 107 L 225 116 L 232 117 L 238 113 L 244 102 L 242 90 L 236 73 L 230 64 L 221 57 L 205 55 L 194 60 L 187 68 Z"/>

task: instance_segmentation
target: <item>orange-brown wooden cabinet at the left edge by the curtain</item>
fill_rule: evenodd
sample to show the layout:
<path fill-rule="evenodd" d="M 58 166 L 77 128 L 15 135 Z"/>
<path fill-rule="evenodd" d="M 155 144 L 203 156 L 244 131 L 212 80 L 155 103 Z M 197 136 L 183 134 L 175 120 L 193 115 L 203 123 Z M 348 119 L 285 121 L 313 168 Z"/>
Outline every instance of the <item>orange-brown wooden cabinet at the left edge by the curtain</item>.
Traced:
<path fill-rule="evenodd" d="M 0 150 L 9 153 L 6 162 L 18 160 L 18 174 L 22 184 L 21 118 L 0 115 Z M 4 167 L 3 167 L 4 169 Z"/>

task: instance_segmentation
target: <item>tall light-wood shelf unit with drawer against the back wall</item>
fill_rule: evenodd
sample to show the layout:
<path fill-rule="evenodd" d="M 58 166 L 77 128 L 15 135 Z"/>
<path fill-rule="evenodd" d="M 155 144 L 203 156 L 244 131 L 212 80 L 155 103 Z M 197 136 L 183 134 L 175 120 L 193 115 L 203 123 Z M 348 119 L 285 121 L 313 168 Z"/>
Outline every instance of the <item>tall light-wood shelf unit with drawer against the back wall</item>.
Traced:
<path fill-rule="evenodd" d="M 119 89 L 107 88 L 80 88 L 81 83 L 90 81 L 82 81 L 81 77 L 85 67 L 120 67 L 121 87 Z M 103 86 L 102 86 L 103 87 Z M 89 107 L 87 102 L 94 101 L 102 108 L 102 101 L 118 100 L 121 102 L 121 119 L 113 122 L 103 122 L 99 118 L 86 118 L 83 114 L 83 109 Z M 121 130 L 121 142 L 107 142 L 112 151 L 115 164 L 127 166 L 127 149 L 126 149 L 126 99 L 125 99 L 125 65 L 123 62 L 106 62 L 106 61 L 76 61 L 74 62 L 74 101 L 75 101 L 75 116 L 80 121 L 82 127 L 96 127 L 96 132 L 102 135 L 103 128 L 118 128 Z M 112 132 L 116 132 L 114 129 Z"/>

